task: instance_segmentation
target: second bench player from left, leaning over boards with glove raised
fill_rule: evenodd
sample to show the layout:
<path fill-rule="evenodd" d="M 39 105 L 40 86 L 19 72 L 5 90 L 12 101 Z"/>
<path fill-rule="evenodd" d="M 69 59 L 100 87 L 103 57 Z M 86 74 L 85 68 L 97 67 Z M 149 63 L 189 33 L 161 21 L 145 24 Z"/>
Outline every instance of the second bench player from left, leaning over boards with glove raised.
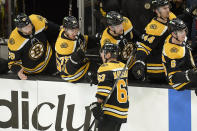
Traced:
<path fill-rule="evenodd" d="M 55 44 L 57 70 L 61 78 L 67 82 L 79 82 L 86 77 L 96 82 L 98 66 L 85 56 L 87 48 L 96 46 L 96 39 L 79 32 L 79 23 L 74 16 L 65 17 L 63 27 Z"/>

